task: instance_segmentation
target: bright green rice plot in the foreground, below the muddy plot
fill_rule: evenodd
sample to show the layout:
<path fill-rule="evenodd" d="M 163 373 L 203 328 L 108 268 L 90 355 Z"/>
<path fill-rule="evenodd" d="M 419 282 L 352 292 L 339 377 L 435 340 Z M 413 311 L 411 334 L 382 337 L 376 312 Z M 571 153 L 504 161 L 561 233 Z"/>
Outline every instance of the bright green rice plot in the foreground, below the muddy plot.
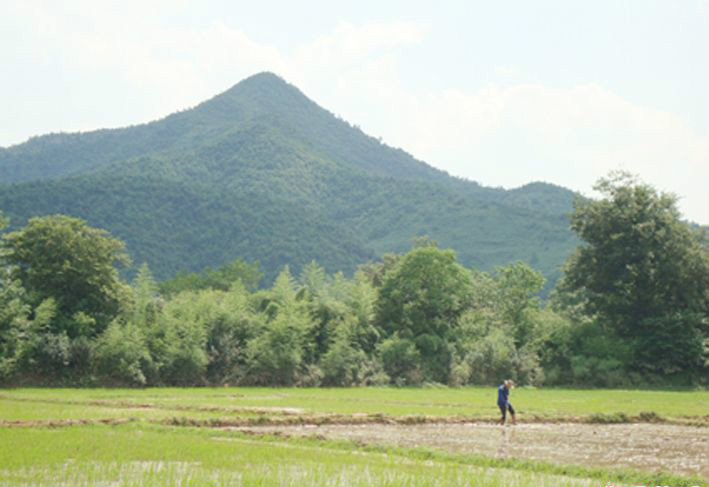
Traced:
<path fill-rule="evenodd" d="M 0 430 L 0 485 L 594 486 L 460 458 L 133 425 Z"/>

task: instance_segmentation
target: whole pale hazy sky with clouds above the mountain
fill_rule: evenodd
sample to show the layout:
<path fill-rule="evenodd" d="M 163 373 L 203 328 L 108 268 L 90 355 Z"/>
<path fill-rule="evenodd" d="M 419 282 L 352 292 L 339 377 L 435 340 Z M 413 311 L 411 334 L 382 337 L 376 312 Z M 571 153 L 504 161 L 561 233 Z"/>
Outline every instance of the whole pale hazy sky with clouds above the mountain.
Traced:
<path fill-rule="evenodd" d="M 451 174 L 591 195 L 624 169 L 709 224 L 709 0 L 0 0 L 0 69 L 0 146 L 268 70 Z"/>

